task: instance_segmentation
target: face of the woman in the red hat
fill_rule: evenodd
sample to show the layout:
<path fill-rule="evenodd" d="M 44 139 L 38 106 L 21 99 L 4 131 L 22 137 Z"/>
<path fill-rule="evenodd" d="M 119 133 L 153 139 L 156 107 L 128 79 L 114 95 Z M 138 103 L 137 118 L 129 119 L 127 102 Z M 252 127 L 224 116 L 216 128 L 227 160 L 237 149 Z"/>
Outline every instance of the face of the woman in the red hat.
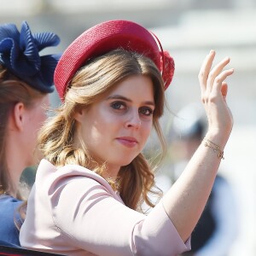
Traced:
<path fill-rule="evenodd" d="M 153 113 L 151 79 L 132 76 L 89 109 L 76 113 L 75 119 L 93 159 L 106 162 L 108 174 L 117 174 L 120 166 L 130 164 L 143 150 L 153 125 Z"/>

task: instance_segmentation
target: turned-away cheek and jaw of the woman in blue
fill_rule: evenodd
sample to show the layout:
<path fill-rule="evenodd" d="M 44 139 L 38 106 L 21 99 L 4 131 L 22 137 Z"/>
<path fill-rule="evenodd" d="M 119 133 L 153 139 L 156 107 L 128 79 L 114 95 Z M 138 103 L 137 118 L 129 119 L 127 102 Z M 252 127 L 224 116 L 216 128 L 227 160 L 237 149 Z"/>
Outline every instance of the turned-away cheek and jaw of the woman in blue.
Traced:
<path fill-rule="evenodd" d="M 45 95 L 39 98 L 32 108 L 26 109 L 26 127 L 24 129 L 24 138 L 26 139 L 27 166 L 34 165 L 42 158 L 37 149 L 38 131 L 47 118 L 46 108 L 49 108 L 49 96 Z"/>

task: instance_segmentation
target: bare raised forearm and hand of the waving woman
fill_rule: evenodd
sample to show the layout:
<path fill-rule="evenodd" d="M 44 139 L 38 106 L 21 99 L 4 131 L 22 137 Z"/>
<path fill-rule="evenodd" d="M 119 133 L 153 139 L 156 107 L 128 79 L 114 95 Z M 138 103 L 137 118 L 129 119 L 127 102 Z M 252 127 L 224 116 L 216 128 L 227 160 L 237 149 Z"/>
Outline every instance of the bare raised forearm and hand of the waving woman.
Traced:
<path fill-rule="evenodd" d="M 230 62 L 225 58 L 212 68 L 215 52 L 207 55 L 201 66 L 199 81 L 201 100 L 208 119 L 207 139 L 224 148 L 232 130 L 233 119 L 226 103 L 227 84 L 224 82 L 234 70 L 224 71 Z M 217 152 L 212 148 L 199 146 L 182 175 L 163 198 L 163 204 L 177 232 L 186 241 L 198 222 L 220 163 Z"/>

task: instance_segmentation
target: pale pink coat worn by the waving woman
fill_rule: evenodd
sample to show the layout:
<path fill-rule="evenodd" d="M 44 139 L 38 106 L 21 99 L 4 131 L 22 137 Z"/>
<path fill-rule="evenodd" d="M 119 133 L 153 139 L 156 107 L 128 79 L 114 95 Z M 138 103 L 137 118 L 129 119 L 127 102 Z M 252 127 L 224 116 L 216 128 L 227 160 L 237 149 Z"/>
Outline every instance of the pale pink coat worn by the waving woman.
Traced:
<path fill-rule="evenodd" d="M 177 255 L 190 249 L 160 202 L 148 216 L 125 207 L 95 172 L 76 165 L 38 166 L 20 230 L 23 247 L 80 255 Z"/>

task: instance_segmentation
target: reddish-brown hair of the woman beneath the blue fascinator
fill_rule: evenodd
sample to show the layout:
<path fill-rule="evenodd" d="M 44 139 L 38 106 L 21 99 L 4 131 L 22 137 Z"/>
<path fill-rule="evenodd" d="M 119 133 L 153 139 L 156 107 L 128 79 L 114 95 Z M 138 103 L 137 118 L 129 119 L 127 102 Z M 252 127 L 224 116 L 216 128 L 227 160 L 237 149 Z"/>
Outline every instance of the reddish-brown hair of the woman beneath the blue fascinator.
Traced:
<path fill-rule="evenodd" d="M 6 144 L 8 143 L 6 134 L 9 114 L 17 102 L 23 102 L 26 108 L 32 108 L 36 99 L 44 95 L 44 93 L 32 89 L 31 86 L 16 78 L 0 65 L 0 195 L 14 189 L 6 162 Z M 19 192 L 17 198 L 21 199 Z"/>

